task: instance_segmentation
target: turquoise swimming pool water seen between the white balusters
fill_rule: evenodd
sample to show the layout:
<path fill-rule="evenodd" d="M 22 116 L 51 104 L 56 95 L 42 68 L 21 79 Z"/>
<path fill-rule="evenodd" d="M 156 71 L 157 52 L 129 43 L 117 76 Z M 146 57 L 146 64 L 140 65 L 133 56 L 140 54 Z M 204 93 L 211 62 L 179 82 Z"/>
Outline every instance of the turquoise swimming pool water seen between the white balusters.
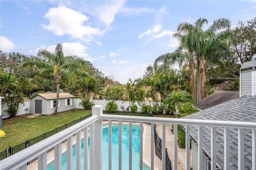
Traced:
<path fill-rule="evenodd" d="M 90 146 L 90 137 L 88 138 L 88 146 Z M 103 169 L 108 169 L 108 126 L 103 127 Z M 84 142 L 82 140 L 82 169 L 84 168 Z M 88 147 L 88 157 L 90 156 L 90 147 Z M 112 125 L 112 169 L 118 169 L 118 125 Z M 132 126 L 132 169 L 140 169 L 140 127 Z M 89 160 L 88 160 L 89 161 Z M 88 166 L 90 168 L 90 165 Z M 122 169 L 129 167 L 129 126 L 122 125 Z M 62 154 L 62 170 L 66 169 L 66 152 Z M 73 146 L 73 169 L 76 169 L 76 145 Z M 143 169 L 148 169 L 143 166 Z M 52 162 L 47 170 L 54 170 L 54 162 Z"/>

